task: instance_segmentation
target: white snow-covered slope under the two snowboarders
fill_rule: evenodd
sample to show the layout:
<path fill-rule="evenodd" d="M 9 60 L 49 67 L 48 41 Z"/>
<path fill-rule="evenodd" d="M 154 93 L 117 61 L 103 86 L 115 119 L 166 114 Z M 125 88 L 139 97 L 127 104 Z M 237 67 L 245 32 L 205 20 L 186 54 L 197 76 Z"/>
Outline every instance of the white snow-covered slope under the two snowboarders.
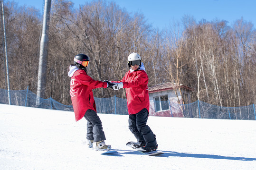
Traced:
<path fill-rule="evenodd" d="M 86 147 L 74 112 L 0 104 L 0 170 L 256 170 L 256 120 L 152 117 L 162 156 L 125 146 L 127 115 L 98 114 L 117 154 Z"/>

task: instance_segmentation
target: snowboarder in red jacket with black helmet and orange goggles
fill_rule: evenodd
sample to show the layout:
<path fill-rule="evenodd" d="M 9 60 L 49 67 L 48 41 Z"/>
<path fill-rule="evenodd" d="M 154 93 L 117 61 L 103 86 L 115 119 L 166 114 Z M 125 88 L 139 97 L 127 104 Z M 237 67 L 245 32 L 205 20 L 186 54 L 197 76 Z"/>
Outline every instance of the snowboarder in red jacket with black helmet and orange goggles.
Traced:
<path fill-rule="evenodd" d="M 96 113 L 96 105 L 92 89 L 112 88 L 114 84 L 92 79 L 86 73 L 89 57 L 85 54 L 77 54 L 74 64 L 69 66 L 68 76 L 70 80 L 70 96 L 74 108 L 76 121 L 85 117 L 87 120 L 86 142 L 88 147 L 107 151 L 111 145 L 106 145 L 102 122 Z"/>

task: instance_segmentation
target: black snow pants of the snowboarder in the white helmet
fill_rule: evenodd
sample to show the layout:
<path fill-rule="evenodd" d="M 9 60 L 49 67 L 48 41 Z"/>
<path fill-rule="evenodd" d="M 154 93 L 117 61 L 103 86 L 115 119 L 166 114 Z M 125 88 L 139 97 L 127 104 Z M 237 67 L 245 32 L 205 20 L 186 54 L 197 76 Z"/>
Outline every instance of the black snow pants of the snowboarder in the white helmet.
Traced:
<path fill-rule="evenodd" d="M 129 129 L 139 142 L 146 142 L 146 146 L 156 145 L 156 138 L 148 125 L 149 112 L 146 108 L 136 114 L 129 115 Z"/>

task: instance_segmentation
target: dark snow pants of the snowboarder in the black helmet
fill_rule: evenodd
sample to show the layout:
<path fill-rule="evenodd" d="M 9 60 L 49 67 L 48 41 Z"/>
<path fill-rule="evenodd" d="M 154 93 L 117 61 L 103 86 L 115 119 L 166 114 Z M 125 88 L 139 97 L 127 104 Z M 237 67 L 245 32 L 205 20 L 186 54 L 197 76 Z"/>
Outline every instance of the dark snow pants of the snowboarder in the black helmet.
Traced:
<path fill-rule="evenodd" d="M 106 140 L 102 122 L 94 110 L 87 110 L 85 112 L 85 119 L 87 120 L 87 136 L 86 139 L 94 140 L 99 142 Z"/>

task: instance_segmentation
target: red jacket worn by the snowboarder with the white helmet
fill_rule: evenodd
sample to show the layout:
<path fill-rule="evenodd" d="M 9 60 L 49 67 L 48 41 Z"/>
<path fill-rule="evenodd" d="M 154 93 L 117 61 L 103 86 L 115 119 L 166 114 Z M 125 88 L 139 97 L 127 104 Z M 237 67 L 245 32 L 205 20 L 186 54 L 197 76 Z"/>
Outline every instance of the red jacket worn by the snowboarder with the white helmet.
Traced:
<path fill-rule="evenodd" d="M 121 81 L 126 91 L 129 114 L 136 114 L 146 108 L 149 111 L 148 75 L 144 70 L 128 71 Z"/>

